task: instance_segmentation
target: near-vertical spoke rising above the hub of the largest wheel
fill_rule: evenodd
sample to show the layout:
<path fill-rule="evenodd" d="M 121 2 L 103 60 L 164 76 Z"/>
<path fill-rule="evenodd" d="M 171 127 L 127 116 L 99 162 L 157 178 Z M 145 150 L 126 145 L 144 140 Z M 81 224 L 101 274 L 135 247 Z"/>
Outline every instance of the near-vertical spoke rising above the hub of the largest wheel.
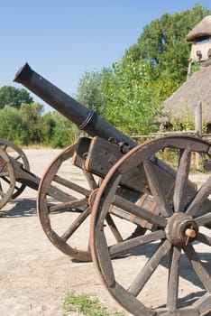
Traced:
<path fill-rule="evenodd" d="M 190 167 L 191 152 L 182 151 L 179 159 L 179 169 L 175 181 L 175 191 L 173 196 L 174 211 L 179 212 L 184 209 L 186 189 L 188 184 L 188 172 Z"/>

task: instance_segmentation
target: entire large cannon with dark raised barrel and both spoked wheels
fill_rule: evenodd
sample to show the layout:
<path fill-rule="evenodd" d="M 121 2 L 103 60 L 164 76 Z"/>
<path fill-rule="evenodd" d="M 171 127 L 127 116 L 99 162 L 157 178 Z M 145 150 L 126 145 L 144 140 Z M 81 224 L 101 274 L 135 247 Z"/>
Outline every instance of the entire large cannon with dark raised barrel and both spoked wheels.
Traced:
<path fill-rule="evenodd" d="M 38 214 L 50 241 L 75 259 L 92 259 L 109 293 L 133 315 L 202 316 L 210 312 L 211 178 L 197 188 L 190 172 L 195 153 L 210 158 L 210 144 L 189 136 L 136 144 L 28 64 L 14 80 L 89 135 L 65 149 L 41 178 Z M 174 154 L 174 163 L 165 159 L 166 149 Z M 78 185 L 71 176 L 71 167 L 69 172 L 62 170 L 69 161 L 83 172 L 87 186 Z M 67 200 L 56 195 L 51 199 L 50 188 L 57 187 L 65 191 Z M 71 219 L 73 213 L 76 218 Z M 66 228 L 58 227 L 58 214 L 67 218 Z M 78 242 L 74 236 L 88 218 L 90 233 L 87 249 L 83 250 L 70 242 Z M 126 229 L 123 221 L 128 224 Z M 206 248 L 206 257 L 201 256 L 202 247 Z M 125 283 L 125 272 L 121 274 L 116 260 L 124 260 L 128 254 L 139 254 L 140 266 L 137 271 L 133 265 L 127 267 L 132 277 L 130 283 Z M 149 258 L 145 260 L 145 256 Z M 184 260 L 197 275 L 197 285 L 202 289 L 199 294 L 190 292 L 182 297 L 179 275 Z M 151 306 L 146 297 L 153 293 L 147 293 L 147 285 L 153 282 L 154 274 L 161 278 L 163 265 L 168 272 L 163 279 L 166 299 Z M 157 295 L 159 284 L 154 288 Z"/>

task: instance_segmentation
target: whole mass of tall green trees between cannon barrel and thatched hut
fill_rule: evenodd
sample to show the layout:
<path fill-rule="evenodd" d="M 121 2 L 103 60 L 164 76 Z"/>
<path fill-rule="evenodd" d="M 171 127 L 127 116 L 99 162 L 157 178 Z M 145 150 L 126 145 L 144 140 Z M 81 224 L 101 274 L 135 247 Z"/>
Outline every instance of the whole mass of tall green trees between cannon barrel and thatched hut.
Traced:
<path fill-rule="evenodd" d="M 187 79 L 188 32 L 210 12 L 201 5 L 163 14 L 143 29 L 136 44 L 103 73 L 105 118 L 126 134 L 156 131 L 161 104 Z"/>

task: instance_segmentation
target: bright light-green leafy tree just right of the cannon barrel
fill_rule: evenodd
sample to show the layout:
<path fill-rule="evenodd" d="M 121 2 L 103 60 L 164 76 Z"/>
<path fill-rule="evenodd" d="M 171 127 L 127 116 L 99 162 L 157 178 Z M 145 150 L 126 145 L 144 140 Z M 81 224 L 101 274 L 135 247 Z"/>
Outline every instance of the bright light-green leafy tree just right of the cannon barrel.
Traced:
<path fill-rule="evenodd" d="M 113 65 L 113 70 L 105 74 L 105 119 L 129 135 L 155 130 L 158 103 L 153 79 L 157 69 L 127 55 Z"/>

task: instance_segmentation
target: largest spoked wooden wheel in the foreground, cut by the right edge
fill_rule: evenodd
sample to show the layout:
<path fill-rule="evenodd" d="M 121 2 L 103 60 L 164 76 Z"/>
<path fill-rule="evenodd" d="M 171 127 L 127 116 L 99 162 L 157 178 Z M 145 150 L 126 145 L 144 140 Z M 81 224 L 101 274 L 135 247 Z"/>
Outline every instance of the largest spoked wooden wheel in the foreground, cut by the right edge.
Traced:
<path fill-rule="evenodd" d="M 161 162 L 165 148 L 173 153 L 174 162 L 177 159 L 172 172 L 175 180 L 168 183 L 171 198 L 163 190 L 165 178 L 159 176 L 160 169 L 169 170 L 169 163 Z M 198 190 L 190 182 L 195 153 L 209 157 L 210 144 L 179 136 L 141 144 L 115 164 L 96 195 L 90 231 L 92 257 L 107 290 L 133 315 L 198 316 L 211 311 L 211 177 Z M 158 213 L 118 195 L 122 178 L 133 168 L 137 175 L 144 169 Z M 105 218 L 113 207 L 151 223 L 151 229 L 144 236 L 111 245 Z M 135 250 L 136 256 L 111 260 L 123 250 Z"/>

